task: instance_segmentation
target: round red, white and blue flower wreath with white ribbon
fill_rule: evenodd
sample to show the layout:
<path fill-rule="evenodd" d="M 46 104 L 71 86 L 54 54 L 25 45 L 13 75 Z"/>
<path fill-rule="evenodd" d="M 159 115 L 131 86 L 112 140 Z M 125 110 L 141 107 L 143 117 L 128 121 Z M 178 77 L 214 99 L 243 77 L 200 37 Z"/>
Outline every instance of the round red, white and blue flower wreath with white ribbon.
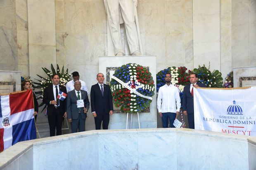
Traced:
<path fill-rule="evenodd" d="M 117 68 L 110 82 L 113 101 L 121 112 L 137 113 L 149 107 L 154 95 L 154 80 L 149 70 L 129 63 Z"/>

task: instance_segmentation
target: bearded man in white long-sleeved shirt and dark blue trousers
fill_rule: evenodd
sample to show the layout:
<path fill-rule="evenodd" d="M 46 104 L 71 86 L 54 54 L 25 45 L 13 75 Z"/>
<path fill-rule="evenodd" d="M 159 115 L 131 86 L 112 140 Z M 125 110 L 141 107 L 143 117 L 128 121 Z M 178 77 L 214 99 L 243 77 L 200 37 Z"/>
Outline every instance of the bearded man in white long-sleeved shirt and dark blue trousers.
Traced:
<path fill-rule="evenodd" d="M 168 120 L 170 120 L 171 128 L 176 115 L 180 114 L 180 93 L 176 86 L 171 84 L 171 73 L 166 73 L 164 86 L 158 91 L 157 109 L 162 118 L 163 128 L 168 128 Z"/>

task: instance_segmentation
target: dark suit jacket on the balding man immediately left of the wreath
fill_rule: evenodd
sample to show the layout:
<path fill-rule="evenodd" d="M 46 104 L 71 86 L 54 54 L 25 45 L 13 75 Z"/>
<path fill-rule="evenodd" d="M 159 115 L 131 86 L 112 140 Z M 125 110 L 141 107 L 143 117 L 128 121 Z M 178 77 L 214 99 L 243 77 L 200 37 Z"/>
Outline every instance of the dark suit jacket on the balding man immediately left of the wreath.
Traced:
<path fill-rule="evenodd" d="M 103 96 L 99 84 L 92 85 L 90 96 L 92 112 L 109 114 L 109 111 L 113 110 L 113 100 L 109 85 L 104 84 Z"/>

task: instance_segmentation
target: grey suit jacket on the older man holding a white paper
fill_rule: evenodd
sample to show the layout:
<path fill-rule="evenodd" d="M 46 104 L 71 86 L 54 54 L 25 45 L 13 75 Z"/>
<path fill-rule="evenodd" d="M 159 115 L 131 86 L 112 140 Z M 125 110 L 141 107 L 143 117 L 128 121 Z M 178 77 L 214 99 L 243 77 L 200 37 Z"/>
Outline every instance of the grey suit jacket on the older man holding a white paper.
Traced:
<path fill-rule="evenodd" d="M 76 91 L 72 90 L 68 92 L 68 96 L 66 98 L 66 113 L 68 114 L 68 119 L 78 119 L 79 113 L 76 105 Z M 81 90 L 81 100 L 84 102 L 84 107 L 89 110 L 90 102 L 88 99 L 88 94 L 86 91 Z M 81 110 L 82 119 L 87 117 L 87 114 L 83 112 L 83 108 Z"/>

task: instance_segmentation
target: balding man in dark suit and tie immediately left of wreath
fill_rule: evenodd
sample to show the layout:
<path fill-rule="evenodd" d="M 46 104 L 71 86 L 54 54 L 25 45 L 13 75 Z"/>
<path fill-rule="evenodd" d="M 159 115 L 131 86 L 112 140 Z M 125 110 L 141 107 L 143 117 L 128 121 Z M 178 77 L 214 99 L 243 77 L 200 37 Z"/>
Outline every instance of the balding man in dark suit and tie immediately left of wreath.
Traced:
<path fill-rule="evenodd" d="M 98 73 L 96 79 L 98 83 L 91 87 L 90 94 L 95 129 L 99 130 L 102 122 L 103 129 L 108 129 L 109 115 L 113 114 L 112 95 L 109 85 L 103 84 L 104 75 L 102 73 Z"/>

